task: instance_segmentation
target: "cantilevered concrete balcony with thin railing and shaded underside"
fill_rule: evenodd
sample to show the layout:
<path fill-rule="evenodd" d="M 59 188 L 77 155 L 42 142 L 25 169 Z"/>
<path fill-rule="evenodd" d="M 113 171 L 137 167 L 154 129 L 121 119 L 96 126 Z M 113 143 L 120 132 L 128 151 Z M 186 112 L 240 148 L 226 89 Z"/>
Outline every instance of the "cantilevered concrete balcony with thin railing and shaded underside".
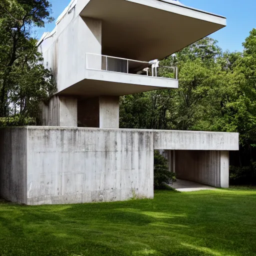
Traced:
<path fill-rule="evenodd" d="M 60 94 L 115 95 L 163 88 L 178 88 L 176 67 L 161 66 L 157 59 L 140 61 L 96 53 L 85 54 L 85 79 Z"/>

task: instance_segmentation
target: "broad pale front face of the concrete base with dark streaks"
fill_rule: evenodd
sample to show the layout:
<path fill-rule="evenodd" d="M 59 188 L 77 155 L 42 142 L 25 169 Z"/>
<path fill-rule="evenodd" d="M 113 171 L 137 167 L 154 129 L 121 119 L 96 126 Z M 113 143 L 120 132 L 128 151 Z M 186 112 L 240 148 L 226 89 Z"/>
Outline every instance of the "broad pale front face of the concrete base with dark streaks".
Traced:
<path fill-rule="evenodd" d="M 153 197 L 153 133 L 27 127 L 27 203 Z"/>

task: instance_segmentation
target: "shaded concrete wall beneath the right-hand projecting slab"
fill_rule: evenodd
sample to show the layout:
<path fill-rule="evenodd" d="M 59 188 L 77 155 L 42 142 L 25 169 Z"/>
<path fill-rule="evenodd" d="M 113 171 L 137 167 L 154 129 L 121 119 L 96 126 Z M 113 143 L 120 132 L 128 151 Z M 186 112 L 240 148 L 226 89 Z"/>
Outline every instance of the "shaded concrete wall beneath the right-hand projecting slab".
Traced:
<path fill-rule="evenodd" d="M 228 151 L 175 150 L 177 178 L 214 187 L 228 187 Z"/>

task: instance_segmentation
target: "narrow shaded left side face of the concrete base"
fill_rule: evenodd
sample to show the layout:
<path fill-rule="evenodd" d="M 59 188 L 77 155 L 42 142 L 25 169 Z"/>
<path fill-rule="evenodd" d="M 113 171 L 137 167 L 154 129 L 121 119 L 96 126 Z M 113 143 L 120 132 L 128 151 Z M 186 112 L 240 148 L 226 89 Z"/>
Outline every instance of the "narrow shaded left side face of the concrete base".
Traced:
<path fill-rule="evenodd" d="M 26 203 L 26 128 L 0 128 L 0 197 Z"/>

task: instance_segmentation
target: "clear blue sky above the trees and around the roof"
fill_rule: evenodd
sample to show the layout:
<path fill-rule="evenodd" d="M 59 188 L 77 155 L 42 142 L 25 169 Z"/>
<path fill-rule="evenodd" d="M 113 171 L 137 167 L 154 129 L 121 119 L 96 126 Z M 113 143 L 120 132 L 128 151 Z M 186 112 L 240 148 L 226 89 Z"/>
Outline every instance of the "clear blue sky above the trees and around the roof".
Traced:
<path fill-rule="evenodd" d="M 180 0 L 190 7 L 202 9 L 227 17 L 227 26 L 211 35 L 219 46 L 230 51 L 241 51 L 242 42 L 252 28 L 256 28 L 256 0 Z M 70 0 L 51 0 L 54 18 L 64 10 Z M 55 23 L 37 28 L 35 35 L 40 37 L 44 31 L 51 31 Z"/>

